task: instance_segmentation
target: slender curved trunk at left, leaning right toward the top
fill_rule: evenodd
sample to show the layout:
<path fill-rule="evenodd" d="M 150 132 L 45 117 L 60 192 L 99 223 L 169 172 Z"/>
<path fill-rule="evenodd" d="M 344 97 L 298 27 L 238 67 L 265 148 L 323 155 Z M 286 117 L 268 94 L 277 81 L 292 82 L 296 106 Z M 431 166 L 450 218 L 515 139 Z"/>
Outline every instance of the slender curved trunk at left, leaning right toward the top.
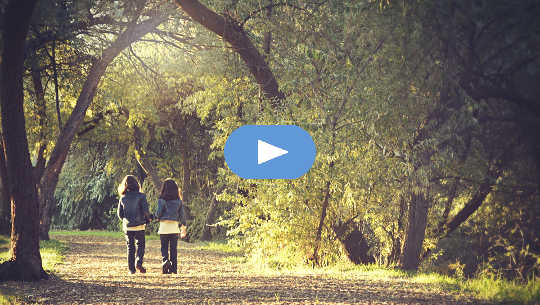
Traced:
<path fill-rule="evenodd" d="M 117 39 L 111 44 L 110 47 L 105 49 L 101 55 L 101 58 L 94 61 L 90 67 L 90 72 L 84 82 L 77 104 L 71 112 L 69 119 L 60 131 L 60 135 L 56 141 L 56 145 L 51 153 L 47 167 L 40 182 L 40 211 L 42 212 L 40 231 L 44 238 L 48 237 L 48 232 L 51 224 L 51 213 L 55 202 L 54 190 L 58 183 L 58 177 L 60 171 L 64 166 L 64 163 L 71 147 L 71 143 L 75 137 L 75 134 L 81 124 L 83 123 L 86 110 L 92 103 L 96 90 L 107 66 L 113 61 L 113 59 L 127 48 L 131 43 L 137 41 L 147 33 L 154 30 L 159 24 L 167 19 L 166 16 L 153 16 L 150 19 L 146 19 L 140 23 L 131 23 L 128 28 L 122 32 Z M 47 234 L 45 234 L 47 232 Z"/>

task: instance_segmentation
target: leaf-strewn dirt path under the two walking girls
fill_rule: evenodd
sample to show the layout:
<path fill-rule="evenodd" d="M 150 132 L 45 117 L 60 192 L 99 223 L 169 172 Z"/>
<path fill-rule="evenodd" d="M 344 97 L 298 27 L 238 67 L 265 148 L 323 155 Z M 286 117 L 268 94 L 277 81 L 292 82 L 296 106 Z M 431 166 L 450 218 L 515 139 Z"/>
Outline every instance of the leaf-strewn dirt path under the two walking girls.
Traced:
<path fill-rule="evenodd" d="M 248 275 L 227 254 L 183 242 L 178 275 L 160 273 L 158 240 L 147 240 L 147 273 L 128 275 L 122 239 L 56 238 L 70 245 L 57 276 L 37 283 L 0 283 L 0 289 L 40 304 L 478 304 L 399 279 Z"/>

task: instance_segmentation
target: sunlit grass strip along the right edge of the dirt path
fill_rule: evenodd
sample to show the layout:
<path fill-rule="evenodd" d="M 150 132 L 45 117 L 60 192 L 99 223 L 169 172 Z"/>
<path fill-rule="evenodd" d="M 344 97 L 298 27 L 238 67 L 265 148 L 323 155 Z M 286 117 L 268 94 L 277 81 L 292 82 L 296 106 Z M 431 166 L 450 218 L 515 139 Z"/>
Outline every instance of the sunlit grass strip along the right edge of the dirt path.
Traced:
<path fill-rule="evenodd" d="M 438 273 L 407 272 L 399 269 L 383 268 L 378 265 L 354 265 L 350 262 L 338 263 L 328 267 L 311 268 L 310 266 L 289 266 L 248 259 L 241 249 L 227 244 L 226 241 L 199 242 L 195 249 L 218 251 L 232 254 L 225 260 L 244 264 L 245 272 L 267 275 L 321 275 L 336 279 L 362 278 L 370 280 L 405 280 L 429 286 L 430 290 L 456 293 L 464 298 L 473 296 L 492 304 L 533 305 L 540 304 L 540 278 L 531 278 L 526 284 L 508 281 L 500 277 L 484 276 L 481 278 L 456 278 Z M 277 266 L 277 268 L 276 268 Z"/>

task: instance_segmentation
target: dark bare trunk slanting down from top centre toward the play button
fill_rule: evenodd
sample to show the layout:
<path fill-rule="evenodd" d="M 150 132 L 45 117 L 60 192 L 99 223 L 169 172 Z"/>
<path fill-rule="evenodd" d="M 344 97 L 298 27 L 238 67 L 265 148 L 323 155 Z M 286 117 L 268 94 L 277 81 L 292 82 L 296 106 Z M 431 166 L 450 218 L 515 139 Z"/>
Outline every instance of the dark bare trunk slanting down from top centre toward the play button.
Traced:
<path fill-rule="evenodd" d="M 233 50 L 240 55 L 248 66 L 266 98 L 278 101 L 285 98 L 283 93 L 279 91 L 276 78 L 266 63 L 264 56 L 251 43 L 248 35 L 240 26 L 230 18 L 225 18 L 211 11 L 197 0 L 176 0 L 176 3 L 193 20 L 216 33 L 231 45 Z M 273 105 L 276 104 L 273 103 Z"/>

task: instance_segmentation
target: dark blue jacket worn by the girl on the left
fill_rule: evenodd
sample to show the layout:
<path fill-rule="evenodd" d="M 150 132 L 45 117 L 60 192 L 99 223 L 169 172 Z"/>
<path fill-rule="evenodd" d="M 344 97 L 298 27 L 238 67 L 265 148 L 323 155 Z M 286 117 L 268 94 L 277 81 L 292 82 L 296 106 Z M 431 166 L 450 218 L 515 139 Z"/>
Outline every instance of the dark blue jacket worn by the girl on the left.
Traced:
<path fill-rule="evenodd" d="M 128 227 L 135 227 L 150 221 L 146 195 L 139 192 L 127 191 L 118 201 L 117 215 L 120 220 L 127 219 Z"/>

